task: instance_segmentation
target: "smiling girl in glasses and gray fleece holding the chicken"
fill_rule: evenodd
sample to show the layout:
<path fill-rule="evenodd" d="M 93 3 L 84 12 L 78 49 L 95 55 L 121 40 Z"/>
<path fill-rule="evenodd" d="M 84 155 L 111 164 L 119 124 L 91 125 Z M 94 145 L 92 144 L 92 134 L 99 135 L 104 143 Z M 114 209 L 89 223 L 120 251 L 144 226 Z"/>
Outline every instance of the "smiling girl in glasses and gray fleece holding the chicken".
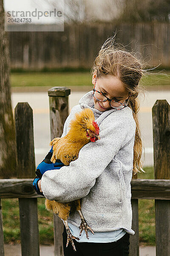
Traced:
<path fill-rule="evenodd" d="M 38 182 L 40 191 L 49 200 L 59 202 L 82 198 L 82 213 L 94 231 L 79 236 L 80 217 L 70 212 L 68 225 L 75 239 L 66 247 L 64 226 L 63 248 L 65 256 L 129 254 L 132 230 L 131 186 L 132 175 L 142 169 L 142 141 L 137 112 L 139 81 L 142 64 L 130 52 L 116 49 L 113 37 L 108 38 L 96 57 L 92 73 L 93 90 L 79 100 L 65 121 L 63 134 L 74 113 L 83 108 L 94 112 L 99 125 L 100 140 L 88 143 L 79 151 L 70 166 L 48 170 Z"/>

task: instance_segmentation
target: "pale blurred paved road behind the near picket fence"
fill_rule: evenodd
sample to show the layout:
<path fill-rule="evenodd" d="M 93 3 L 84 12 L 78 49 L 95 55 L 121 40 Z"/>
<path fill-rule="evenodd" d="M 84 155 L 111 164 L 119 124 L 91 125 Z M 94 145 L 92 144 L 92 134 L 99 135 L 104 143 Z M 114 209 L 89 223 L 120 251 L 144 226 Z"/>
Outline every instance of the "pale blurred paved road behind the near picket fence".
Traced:
<path fill-rule="evenodd" d="M 89 91 L 89 90 L 88 90 Z M 86 93 L 71 92 L 69 96 L 69 109 L 77 105 L 79 99 Z M 170 104 L 170 90 L 148 91 L 145 97 L 140 97 L 141 108 L 139 111 L 139 123 L 142 133 L 143 147 L 145 150 L 142 154 L 144 166 L 153 166 L 153 131 L 152 131 L 152 107 L 157 99 L 166 99 Z M 34 147 L 36 166 L 43 160 L 48 153 L 51 141 L 50 138 L 50 119 L 49 119 L 49 102 L 47 92 L 22 92 L 11 93 L 12 108 L 18 102 L 28 102 L 33 109 L 34 122 Z M 144 151 L 143 151 L 144 152 Z"/>

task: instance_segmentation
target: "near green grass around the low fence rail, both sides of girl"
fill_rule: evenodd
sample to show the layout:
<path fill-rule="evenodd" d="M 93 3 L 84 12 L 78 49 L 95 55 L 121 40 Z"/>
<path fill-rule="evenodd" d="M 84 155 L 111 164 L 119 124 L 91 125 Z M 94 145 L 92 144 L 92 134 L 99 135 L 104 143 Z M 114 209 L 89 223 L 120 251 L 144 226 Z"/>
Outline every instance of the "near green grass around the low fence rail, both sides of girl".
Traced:
<path fill-rule="evenodd" d="M 153 167 L 144 168 L 146 173 L 138 173 L 139 179 L 153 179 Z M 45 199 L 37 198 L 40 244 L 54 243 L 53 213 L 45 209 Z M 18 199 L 2 199 L 4 241 L 8 244 L 20 243 L 20 215 Z M 139 200 L 139 242 L 140 245 L 155 245 L 155 205 L 154 200 Z"/>

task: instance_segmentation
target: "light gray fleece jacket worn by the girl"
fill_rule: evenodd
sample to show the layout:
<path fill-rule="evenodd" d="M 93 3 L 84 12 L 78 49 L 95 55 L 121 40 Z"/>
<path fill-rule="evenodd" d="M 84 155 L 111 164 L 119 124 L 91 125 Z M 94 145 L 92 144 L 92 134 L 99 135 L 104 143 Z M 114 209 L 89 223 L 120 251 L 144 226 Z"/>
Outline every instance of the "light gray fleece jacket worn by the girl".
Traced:
<path fill-rule="evenodd" d="M 69 166 L 48 170 L 42 175 L 41 189 L 45 198 L 70 202 L 82 198 L 82 214 L 94 232 L 131 229 L 131 186 L 133 145 L 136 122 L 129 107 L 105 112 L 94 108 L 92 90 L 79 100 L 65 120 L 64 137 L 76 112 L 90 108 L 99 125 L 100 140 L 89 142 L 80 151 L 78 159 Z M 68 221 L 79 227 L 81 219 L 76 211 Z"/>

